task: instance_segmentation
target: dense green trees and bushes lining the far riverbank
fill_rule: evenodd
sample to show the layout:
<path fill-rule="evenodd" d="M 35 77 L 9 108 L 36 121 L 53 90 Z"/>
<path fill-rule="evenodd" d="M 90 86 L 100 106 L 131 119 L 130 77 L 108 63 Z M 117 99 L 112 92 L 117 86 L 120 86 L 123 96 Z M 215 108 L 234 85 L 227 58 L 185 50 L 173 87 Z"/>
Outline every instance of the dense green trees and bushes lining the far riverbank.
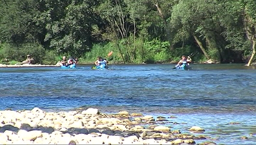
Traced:
<path fill-rule="evenodd" d="M 248 62 L 256 45 L 255 0 L 0 0 L 0 62 Z M 11 62 L 11 61 L 10 61 Z M 9 63 L 10 63 L 9 62 Z M 14 61 L 12 61 L 14 62 Z"/>

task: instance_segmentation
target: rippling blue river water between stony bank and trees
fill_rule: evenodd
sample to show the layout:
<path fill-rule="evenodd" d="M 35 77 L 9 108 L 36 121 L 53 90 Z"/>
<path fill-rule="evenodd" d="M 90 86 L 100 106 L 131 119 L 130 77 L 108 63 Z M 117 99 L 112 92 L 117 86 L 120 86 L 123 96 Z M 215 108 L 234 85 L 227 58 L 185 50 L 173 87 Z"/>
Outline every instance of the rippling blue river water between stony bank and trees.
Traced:
<path fill-rule="evenodd" d="M 106 113 L 176 116 L 170 120 L 179 124 L 169 125 L 182 133 L 198 125 L 217 144 L 256 144 L 256 68 L 193 64 L 193 70 L 181 71 L 173 66 L 0 68 L 0 110 L 95 107 Z"/>

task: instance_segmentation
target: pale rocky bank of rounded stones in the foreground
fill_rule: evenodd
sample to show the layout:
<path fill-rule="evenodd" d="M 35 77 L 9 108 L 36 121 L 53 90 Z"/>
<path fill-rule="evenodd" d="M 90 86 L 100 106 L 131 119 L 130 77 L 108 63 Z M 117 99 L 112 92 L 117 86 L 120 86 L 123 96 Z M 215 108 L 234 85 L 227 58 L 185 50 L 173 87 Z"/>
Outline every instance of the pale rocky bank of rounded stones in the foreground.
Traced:
<path fill-rule="evenodd" d="M 203 136 L 172 130 L 158 116 L 98 109 L 69 112 L 0 111 L 0 144 L 196 144 Z M 161 124 L 161 125 L 160 125 Z M 147 127 L 145 127 L 147 126 Z M 193 126 L 192 132 L 205 131 Z M 203 142 L 201 144 L 215 144 Z"/>

